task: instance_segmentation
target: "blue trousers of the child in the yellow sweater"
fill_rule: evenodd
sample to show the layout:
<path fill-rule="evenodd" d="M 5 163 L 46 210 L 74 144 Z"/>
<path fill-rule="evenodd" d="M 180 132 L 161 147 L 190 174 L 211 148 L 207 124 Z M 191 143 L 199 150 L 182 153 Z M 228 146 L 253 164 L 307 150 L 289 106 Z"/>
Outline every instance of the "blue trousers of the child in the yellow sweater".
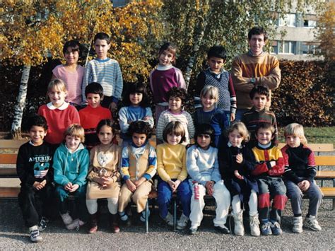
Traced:
<path fill-rule="evenodd" d="M 172 181 L 175 181 L 173 179 Z M 160 211 L 160 217 L 166 218 L 168 209 L 172 199 L 172 189 L 170 185 L 163 181 L 158 180 L 158 207 Z M 191 197 L 192 197 L 192 189 L 189 187 L 189 182 L 187 179 L 182 181 L 177 188 L 177 199 L 182 203 L 182 212 L 185 216 L 189 217 L 191 212 Z"/>

